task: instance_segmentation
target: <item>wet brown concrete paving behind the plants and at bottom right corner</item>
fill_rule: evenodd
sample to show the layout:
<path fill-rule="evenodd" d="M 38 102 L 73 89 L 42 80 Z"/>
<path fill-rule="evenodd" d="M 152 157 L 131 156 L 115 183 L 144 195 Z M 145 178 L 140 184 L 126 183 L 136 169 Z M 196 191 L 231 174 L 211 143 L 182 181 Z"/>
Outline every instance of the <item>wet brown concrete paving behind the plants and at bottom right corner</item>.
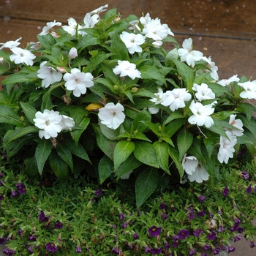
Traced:
<path fill-rule="evenodd" d="M 160 18 L 176 40 L 191 37 L 194 49 L 211 56 L 219 67 L 219 79 L 246 75 L 256 79 L 256 18 L 254 0 L 0 0 L 0 42 L 23 37 L 20 47 L 37 42 L 37 34 L 48 21 L 67 23 L 83 20 L 86 12 L 108 4 L 122 17 L 129 14 Z M 236 244 L 233 256 L 254 256 L 249 241 Z"/>

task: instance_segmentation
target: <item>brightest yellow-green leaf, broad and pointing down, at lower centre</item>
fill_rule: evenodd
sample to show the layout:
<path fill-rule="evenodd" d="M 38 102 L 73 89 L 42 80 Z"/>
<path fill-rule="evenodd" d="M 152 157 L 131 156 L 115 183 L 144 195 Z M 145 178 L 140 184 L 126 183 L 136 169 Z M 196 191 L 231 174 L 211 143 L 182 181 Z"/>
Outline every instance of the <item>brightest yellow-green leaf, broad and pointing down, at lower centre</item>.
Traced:
<path fill-rule="evenodd" d="M 114 170 L 123 163 L 132 151 L 135 149 L 135 143 L 132 141 L 121 140 L 116 144 L 114 150 Z"/>

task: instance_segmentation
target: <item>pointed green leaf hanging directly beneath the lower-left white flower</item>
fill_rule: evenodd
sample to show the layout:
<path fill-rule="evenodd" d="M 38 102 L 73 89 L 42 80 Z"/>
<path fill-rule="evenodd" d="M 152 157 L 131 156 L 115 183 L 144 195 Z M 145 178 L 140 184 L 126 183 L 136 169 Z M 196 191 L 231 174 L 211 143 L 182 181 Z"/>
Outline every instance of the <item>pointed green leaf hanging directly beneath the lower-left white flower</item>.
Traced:
<path fill-rule="evenodd" d="M 53 144 L 50 142 L 50 140 L 42 140 L 37 145 L 35 157 L 37 160 L 37 167 L 40 175 L 42 175 L 42 170 L 45 166 L 46 160 L 50 155 L 52 147 L 53 147 Z"/>

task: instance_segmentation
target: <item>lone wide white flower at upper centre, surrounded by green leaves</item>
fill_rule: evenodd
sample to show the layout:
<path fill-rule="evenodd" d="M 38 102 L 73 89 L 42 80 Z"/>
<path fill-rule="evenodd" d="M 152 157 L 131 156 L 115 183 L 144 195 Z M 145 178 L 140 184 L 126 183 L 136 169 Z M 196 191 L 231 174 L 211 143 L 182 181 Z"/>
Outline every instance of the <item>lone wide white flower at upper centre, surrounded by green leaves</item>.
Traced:
<path fill-rule="evenodd" d="M 132 79 L 141 78 L 141 73 L 136 69 L 136 65 L 129 61 L 118 61 L 118 65 L 113 68 L 113 72 L 116 75 L 120 74 L 121 77 L 128 75 Z"/>

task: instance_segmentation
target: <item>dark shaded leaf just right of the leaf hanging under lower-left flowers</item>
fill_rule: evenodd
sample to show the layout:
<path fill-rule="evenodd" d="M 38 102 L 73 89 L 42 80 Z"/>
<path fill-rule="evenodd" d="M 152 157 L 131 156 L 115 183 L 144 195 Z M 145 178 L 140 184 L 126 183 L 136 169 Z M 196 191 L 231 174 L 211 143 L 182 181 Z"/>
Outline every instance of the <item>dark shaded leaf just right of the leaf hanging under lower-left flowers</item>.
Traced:
<path fill-rule="evenodd" d="M 61 180 L 67 180 L 69 175 L 69 168 L 67 162 L 65 162 L 56 151 L 52 151 L 49 157 L 50 167 L 53 173 Z"/>

